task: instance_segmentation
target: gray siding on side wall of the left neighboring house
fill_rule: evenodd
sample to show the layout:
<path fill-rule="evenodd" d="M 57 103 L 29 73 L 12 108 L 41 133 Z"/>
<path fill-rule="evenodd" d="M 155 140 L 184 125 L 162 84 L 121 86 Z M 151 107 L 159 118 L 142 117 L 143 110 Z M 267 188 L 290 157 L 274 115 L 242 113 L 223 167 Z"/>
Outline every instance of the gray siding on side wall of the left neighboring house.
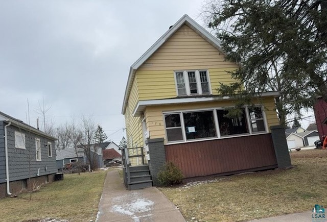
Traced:
<path fill-rule="evenodd" d="M 25 134 L 25 150 L 15 148 L 15 131 Z M 29 169 L 31 169 L 32 178 L 37 177 L 38 169 L 40 169 L 39 176 L 55 174 L 57 172 L 55 142 L 53 140 L 18 129 L 15 126 L 7 128 L 7 135 L 10 181 L 29 178 Z M 39 138 L 41 141 L 41 161 L 36 161 L 35 138 Z M 52 143 L 52 157 L 48 157 L 48 147 L 45 146 L 48 142 Z M 0 183 L 4 182 L 4 179 L 0 179 Z"/>

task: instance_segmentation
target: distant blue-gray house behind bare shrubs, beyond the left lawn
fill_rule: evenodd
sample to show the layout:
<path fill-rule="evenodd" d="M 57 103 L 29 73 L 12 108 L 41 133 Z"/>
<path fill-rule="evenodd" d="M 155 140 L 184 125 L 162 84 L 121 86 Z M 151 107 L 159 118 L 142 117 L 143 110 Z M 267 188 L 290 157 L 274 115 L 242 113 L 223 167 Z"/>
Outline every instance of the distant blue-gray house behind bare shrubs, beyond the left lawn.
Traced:
<path fill-rule="evenodd" d="M 94 145 L 95 144 L 91 144 L 91 152 L 94 151 Z M 97 145 L 97 144 L 96 144 Z M 72 163 L 72 162 L 82 162 L 82 163 L 89 163 L 84 150 L 82 148 L 78 148 L 77 154 L 78 154 L 78 158 L 75 152 L 74 148 L 67 148 L 64 150 L 59 150 L 56 152 L 57 153 L 57 158 L 56 158 L 56 162 L 57 162 L 57 169 L 61 169 L 66 163 Z M 94 152 L 92 152 L 94 153 Z M 103 158 L 102 158 L 102 148 L 99 147 L 98 145 L 96 146 L 96 154 L 95 154 L 95 158 L 97 161 L 97 167 L 101 168 L 103 167 Z"/>

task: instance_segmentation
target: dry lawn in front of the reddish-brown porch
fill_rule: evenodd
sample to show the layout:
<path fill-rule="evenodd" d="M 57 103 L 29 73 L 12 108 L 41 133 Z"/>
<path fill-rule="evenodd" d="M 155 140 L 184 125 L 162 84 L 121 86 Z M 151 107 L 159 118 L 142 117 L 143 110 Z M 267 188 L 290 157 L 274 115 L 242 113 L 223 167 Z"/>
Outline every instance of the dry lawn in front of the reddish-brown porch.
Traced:
<path fill-rule="evenodd" d="M 325 206 L 327 151 L 290 155 L 291 169 L 216 177 L 160 190 L 188 221 L 243 221 Z"/>

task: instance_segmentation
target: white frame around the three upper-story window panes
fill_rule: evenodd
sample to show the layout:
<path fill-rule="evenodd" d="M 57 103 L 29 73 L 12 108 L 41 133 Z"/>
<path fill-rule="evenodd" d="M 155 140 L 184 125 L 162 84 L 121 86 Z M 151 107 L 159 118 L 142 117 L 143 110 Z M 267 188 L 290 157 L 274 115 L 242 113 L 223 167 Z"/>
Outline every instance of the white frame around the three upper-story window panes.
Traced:
<path fill-rule="evenodd" d="M 203 93 L 202 92 L 202 85 L 201 85 L 201 78 L 200 78 L 200 71 L 205 71 L 206 72 L 206 78 L 208 81 L 208 89 L 209 92 Z M 176 78 L 176 73 L 177 72 L 182 72 L 183 73 L 183 79 L 184 79 L 184 84 L 185 84 L 185 89 L 186 89 L 186 95 L 179 95 L 178 94 L 178 87 L 177 87 L 177 78 Z M 197 93 L 191 93 L 190 89 L 190 82 L 189 82 L 189 72 L 195 72 L 195 79 L 196 79 L 196 85 L 197 85 Z M 211 89 L 211 81 L 209 77 L 209 70 L 207 69 L 198 69 L 198 70 L 175 70 L 174 71 L 174 79 L 175 79 L 175 89 L 176 89 L 176 94 L 177 96 L 190 96 L 190 95 L 210 95 L 212 94 L 212 89 Z"/>

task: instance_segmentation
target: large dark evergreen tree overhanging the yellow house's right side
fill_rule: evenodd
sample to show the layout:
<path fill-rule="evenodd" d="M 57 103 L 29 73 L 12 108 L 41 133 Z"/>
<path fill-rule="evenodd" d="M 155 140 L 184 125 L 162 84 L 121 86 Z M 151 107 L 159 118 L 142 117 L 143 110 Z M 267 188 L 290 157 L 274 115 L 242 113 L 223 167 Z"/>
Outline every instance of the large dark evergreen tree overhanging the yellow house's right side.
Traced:
<path fill-rule="evenodd" d="M 239 106 L 254 95 L 279 91 L 279 124 L 301 116 L 315 98 L 327 102 L 327 3 L 323 0 L 226 0 L 208 5 L 209 28 L 217 31 L 236 83 L 218 85 Z M 238 94 L 235 96 L 235 94 Z"/>

